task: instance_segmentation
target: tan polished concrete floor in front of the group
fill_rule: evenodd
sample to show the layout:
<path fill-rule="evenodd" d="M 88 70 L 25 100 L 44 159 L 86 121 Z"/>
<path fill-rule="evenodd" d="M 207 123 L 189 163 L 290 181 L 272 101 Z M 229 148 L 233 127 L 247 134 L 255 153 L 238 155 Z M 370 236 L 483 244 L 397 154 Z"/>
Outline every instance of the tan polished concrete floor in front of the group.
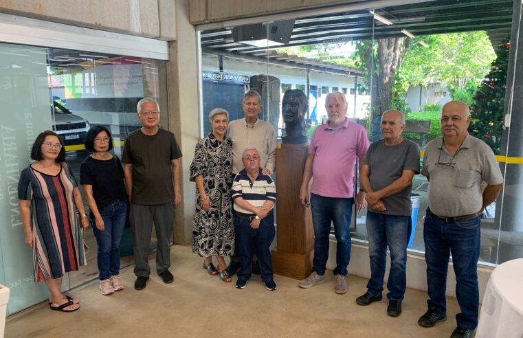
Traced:
<path fill-rule="evenodd" d="M 188 246 L 171 249 L 175 275 L 164 284 L 154 273 L 146 289 L 135 291 L 133 268 L 122 270 L 126 286 L 103 296 L 98 282 L 69 294 L 80 298 L 74 313 L 51 311 L 47 303 L 9 317 L 5 337 L 449 337 L 456 326 L 458 304 L 449 298 L 447 321 L 434 328 L 416 324 L 426 311 L 427 294 L 408 289 L 403 313 L 386 314 L 388 302 L 358 306 L 366 291 L 364 278 L 348 276 L 348 293 L 337 295 L 330 271 L 324 284 L 298 288 L 298 281 L 275 276 L 277 291 L 267 291 L 254 275 L 243 290 L 225 284 L 201 267 Z M 154 269 L 154 258 L 151 267 Z M 350 271 L 350 269 L 349 269 Z M 385 297 L 383 297 L 385 298 Z"/>

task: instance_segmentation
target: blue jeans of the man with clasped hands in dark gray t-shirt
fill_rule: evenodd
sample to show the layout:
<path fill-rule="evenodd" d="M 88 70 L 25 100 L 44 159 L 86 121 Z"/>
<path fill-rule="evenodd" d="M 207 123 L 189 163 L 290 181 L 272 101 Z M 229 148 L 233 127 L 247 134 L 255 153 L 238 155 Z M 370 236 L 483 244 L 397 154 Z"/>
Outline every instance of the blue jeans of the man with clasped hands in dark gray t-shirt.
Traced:
<path fill-rule="evenodd" d="M 390 250 L 390 271 L 387 289 L 389 300 L 403 300 L 407 287 L 407 245 L 410 237 L 410 216 L 395 216 L 367 212 L 368 254 L 370 280 L 368 293 L 379 297 L 387 266 L 387 247 Z"/>

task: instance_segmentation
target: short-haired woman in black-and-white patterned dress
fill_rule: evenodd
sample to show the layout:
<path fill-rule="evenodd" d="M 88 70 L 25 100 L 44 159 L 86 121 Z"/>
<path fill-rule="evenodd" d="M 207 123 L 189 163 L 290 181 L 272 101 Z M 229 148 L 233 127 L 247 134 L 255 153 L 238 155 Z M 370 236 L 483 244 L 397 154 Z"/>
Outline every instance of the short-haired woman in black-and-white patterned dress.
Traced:
<path fill-rule="evenodd" d="M 229 113 L 216 108 L 209 113 L 212 132 L 194 150 L 190 181 L 197 186 L 196 214 L 192 223 L 192 252 L 203 257 L 203 268 L 221 280 L 231 282 L 224 256 L 234 253 L 232 223 L 232 148 L 225 137 Z M 212 264 L 216 256 L 218 269 Z"/>

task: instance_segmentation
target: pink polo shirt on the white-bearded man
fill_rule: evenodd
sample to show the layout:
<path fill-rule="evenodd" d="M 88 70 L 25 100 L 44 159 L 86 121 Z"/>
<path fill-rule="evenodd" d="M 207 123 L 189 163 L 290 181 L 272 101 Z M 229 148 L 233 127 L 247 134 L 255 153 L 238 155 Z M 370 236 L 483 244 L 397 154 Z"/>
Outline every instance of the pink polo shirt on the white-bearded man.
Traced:
<path fill-rule="evenodd" d="M 324 197 L 354 197 L 356 156 L 363 161 L 368 149 L 365 128 L 347 118 L 334 131 L 329 123 L 314 131 L 309 155 L 314 155 L 311 192 Z"/>

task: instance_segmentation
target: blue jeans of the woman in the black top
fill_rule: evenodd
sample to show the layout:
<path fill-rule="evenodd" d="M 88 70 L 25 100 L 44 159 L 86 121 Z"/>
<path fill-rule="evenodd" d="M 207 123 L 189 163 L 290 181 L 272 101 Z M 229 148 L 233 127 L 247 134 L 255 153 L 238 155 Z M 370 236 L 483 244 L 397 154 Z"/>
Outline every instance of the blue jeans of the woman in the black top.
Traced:
<path fill-rule="evenodd" d="M 104 220 L 104 231 L 96 229 L 96 221 L 91 213 L 91 225 L 98 245 L 100 280 L 107 280 L 111 275 L 120 273 L 120 241 L 127 219 L 127 208 L 124 201 L 115 201 L 102 207 L 99 211 Z"/>

